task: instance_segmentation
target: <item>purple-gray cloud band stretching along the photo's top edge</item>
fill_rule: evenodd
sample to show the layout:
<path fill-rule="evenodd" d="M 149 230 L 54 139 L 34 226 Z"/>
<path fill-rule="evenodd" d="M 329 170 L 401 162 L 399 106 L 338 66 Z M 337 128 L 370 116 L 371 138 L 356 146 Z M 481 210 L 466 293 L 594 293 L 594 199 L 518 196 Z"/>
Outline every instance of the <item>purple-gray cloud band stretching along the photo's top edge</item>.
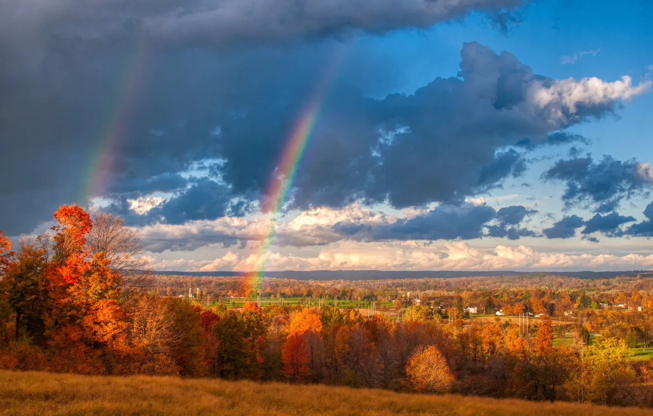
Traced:
<path fill-rule="evenodd" d="M 165 44 L 271 43 L 349 31 L 427 28 L 479 10 L 503 16 L 522 0 L 125 0 L 2 1 L 0 41 L 13 48 L 83 48 L 135 32 Z M 498 14 L 502 13 L 502 14 Z M 7 36 L 11 36 L 11 40 Z"/>

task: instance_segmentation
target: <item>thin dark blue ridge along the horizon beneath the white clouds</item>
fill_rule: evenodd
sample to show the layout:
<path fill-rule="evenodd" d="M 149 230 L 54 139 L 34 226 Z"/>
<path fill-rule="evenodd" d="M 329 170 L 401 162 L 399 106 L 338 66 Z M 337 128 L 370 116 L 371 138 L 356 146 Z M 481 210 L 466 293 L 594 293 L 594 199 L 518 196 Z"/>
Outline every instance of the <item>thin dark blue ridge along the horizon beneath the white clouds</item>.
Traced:
<path fill-rule="evenodd" d="M 251 273 L 234 271 L 157 271 L 157 275 L 178 275 L 178 276 L 248 276 Z M 383 271 L 383 270 L 317 270 L 317 271 L 270 271 L 265 275 L 268 277 L 288 278 L 295 280 L 386 280 L 403 278 L 456 278 L 456 277 L 496 277 L 496 276 L 517 276 L 517 275 L 555 275 L 563 277 L 575 277 L 581 279 L 611 278 L 615 276 L 637 276 L 653 275 L 652 271 Z"/>

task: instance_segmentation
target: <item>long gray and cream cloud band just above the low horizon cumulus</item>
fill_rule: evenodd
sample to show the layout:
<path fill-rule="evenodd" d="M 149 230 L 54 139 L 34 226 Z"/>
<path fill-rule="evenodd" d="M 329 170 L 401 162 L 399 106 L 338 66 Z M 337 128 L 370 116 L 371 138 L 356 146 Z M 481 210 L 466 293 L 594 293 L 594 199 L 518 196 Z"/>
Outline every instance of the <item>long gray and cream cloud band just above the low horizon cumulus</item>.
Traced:
<path fill-rule="evenodd" d="M 338 241 L 455 241 L 484 237 L 535 237 L 522 222 L 537 211 L 521 205 L 498 211 L 488 205 L 440 205 L 411 218 L 394 218 L 383 213 L 343 211 L 347 218 L 327 223 L 306 223 L 300 227 L 282 222 L 274 243 L 279 246 L 319 246 Z M 343 214 L 341 213 L 341 215 Z M 362 214 L 362 215 L 361 215 Z M 328 218 L 329 213 L 323 213 Z M 195 250 L 207 245 L 244 245 L 268 236 L 269 224 L 246 218 L 224 218 L 215 222 L 196 221 L 185 225 L 155 224 L 144 228 L 147 250 Z"/>

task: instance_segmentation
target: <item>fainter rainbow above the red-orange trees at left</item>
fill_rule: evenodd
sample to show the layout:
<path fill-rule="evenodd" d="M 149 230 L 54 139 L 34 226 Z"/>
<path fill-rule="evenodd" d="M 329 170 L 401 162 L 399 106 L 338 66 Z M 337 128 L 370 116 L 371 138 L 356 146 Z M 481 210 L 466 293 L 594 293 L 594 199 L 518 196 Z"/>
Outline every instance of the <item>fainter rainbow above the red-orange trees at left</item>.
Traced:
<path fill-rule="evenodd" d="M 112 172 L 119 162 L 118 155 L 122 141 L 131 126 L 138 95 L 143 89 L 143 81 L 148 68 L 148 56 L 145 51 L 145 38 L 137 35 L 131 50 L 127 53 L 123 70 L 118 78 L 118 88 L 108 106 L 106 123 L 98 135 L 97 147 L 89 158 L 86 174 L 82 176 L 82 185 L 78 198 L 89 203 L 90 198 L 103 196 L 110 186 Z"/>

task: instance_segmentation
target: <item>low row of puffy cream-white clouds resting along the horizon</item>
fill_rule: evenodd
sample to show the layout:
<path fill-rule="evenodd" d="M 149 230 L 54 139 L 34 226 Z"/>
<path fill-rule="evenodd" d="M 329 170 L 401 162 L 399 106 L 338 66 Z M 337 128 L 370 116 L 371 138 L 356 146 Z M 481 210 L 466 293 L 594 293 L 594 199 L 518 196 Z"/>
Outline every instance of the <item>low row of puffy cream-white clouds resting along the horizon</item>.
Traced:
<path fill-rule="evenodd" d="M 650 269 L 653 254 L 577 254 L 543 252 L 529 246 L 475 248 L 456 242 L 443 246 L 342 242 L 314 256 L 279 252 L 228 252 L 216 260 L 150 258 L 155 269 L 253 271 L 266 256 L 266 269 L 283 270 L 617 270 Z"/>

